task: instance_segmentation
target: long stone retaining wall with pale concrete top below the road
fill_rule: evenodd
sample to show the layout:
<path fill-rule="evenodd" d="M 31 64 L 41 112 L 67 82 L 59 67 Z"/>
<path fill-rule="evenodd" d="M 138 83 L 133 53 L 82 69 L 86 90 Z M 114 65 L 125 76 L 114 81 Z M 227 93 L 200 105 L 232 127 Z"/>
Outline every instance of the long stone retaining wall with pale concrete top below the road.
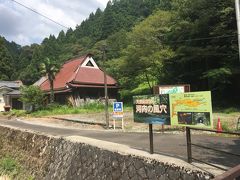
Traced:
<path fill-rule="evenodd" d="M 51 137 L 0 126 L 0 157 L 10 154 L 36 179 L 211 179 L 188 163 L 85 137 Z"/>

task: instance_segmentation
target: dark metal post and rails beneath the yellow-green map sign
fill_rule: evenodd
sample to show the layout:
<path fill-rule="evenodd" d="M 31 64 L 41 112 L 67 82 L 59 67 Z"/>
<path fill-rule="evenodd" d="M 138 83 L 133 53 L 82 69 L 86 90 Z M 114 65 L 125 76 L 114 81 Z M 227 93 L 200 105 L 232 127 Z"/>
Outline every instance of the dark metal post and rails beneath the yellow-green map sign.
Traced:
<path fill-rule="evenodd" d="M 203 160 L 200 160 L 200 159 L 192 157 L 192 146 L 203 148 L 203 149 L 213 150 L 213 151 L 216 151 L 216 152 L 219 152 L 219 153 L 223 153 L 223 154 L 227 154 L 227 155 L 231 155 L 231 156 L 240 157 L 240 154 L 231 153 L 231 152 L 215 149 L 215 148 L 212 148 L 212 147 L 207 147 L 207 146 L 203 146 L 203 145 L 192 143 L 192 141 L 191 141 L 191 129 L 192 130 L 196 130 L 196 131 L 208 131 L 208 132 L 215 132 L 215 133 L 222 133 L 222 134 L 237 135 L 237 136 L 240 137 L 240 133 L 237 133 L 237 132 L 216 131 L 216 130 L 211 130 L 211 129 L 201 129 L 201 128 L 194 128 L 194 127 L 186 127 L 188 163 L 192 163 L 192 160 L 196 160 L 196 161 L 205 163 L 207 165 L 213 166 L 215 168 L 218 168 L 218 169 L 221 169 L 221 170 L 226 170 L 225 168 L 222 168 L 220 166 L 217 166 L 217 165 L 208 163 L 206 161 L 203 161 Z"/>

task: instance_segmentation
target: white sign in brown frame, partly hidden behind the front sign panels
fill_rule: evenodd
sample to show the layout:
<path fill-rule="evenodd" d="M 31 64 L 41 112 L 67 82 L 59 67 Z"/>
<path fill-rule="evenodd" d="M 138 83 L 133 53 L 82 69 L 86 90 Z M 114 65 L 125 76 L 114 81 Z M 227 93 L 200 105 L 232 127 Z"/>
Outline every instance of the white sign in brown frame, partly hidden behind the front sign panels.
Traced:
<path fill-rule="evenodd" d="M 176 94 L 184 93 L 190 91 L 189 84 L 183 85 L 164 85 L 164 86 L 155 86 L 153 88 L 154 94 Z"/>

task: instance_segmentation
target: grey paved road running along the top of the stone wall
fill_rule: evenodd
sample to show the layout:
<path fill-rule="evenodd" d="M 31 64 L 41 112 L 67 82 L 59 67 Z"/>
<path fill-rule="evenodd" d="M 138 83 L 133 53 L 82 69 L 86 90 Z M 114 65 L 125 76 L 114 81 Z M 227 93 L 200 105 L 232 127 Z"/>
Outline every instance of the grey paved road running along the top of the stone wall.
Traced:
<path fill-rule="evenodd" d="M 79 135 L 94 139 L 125 144 L 135 149 L 149 151 L 148 133 L 113 132 L 98 130 L 78 130 L 71 128 L 57 128 L 29 124 L 17 120 L 0 120 L 0 125 L 8 125 L 27 130 L 34 130 L 49 135 L 72 136 Z M 240 154 L 240 138 L 216 137 L 210 135 L 192 135 L 192 142 L 207 147 L 213 147 L 224 151 Z M 211 163 L 233 167 L 240 164 L 240 158 L 219 154 L 210 150 L 192 148 L 193 157 Z M 186 160 L 186 139 L 184 134 L 154 134 L 154 152 Z"/>

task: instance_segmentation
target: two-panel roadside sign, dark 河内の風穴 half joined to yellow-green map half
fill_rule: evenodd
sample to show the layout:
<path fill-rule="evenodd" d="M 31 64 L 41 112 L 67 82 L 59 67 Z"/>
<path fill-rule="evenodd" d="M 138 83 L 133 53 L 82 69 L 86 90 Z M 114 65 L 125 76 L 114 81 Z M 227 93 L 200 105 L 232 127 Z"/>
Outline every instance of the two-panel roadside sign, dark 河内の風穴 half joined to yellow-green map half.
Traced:
<path fill-rule="evenodd" d="M 212 127 L 211 92 L 134 96 L 134 121 Z"/>

